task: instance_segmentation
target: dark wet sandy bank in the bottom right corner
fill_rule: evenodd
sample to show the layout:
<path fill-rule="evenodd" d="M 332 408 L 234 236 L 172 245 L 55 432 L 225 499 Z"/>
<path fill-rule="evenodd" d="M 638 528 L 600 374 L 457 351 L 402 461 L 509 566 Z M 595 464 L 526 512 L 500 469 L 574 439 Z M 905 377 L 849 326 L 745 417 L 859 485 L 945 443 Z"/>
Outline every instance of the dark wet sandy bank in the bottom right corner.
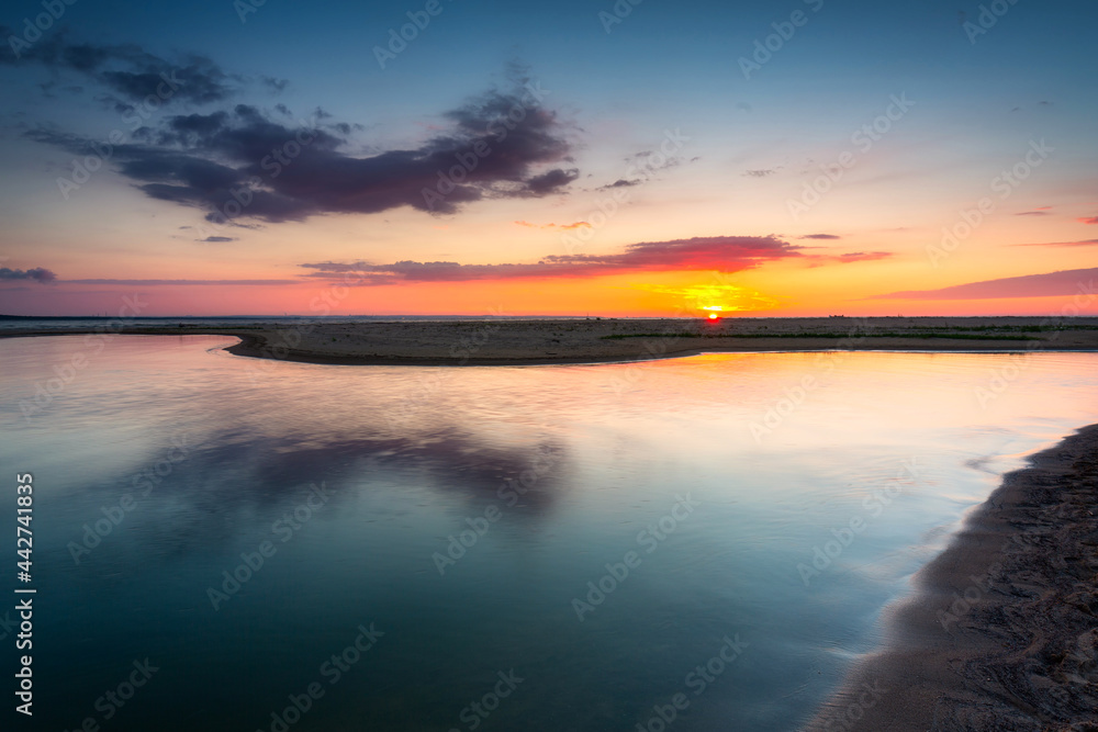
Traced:
<path fill-rule="evenodd" d="M 1006 473 L 803 728 L 1098 730 L 1098 425 Z"/>

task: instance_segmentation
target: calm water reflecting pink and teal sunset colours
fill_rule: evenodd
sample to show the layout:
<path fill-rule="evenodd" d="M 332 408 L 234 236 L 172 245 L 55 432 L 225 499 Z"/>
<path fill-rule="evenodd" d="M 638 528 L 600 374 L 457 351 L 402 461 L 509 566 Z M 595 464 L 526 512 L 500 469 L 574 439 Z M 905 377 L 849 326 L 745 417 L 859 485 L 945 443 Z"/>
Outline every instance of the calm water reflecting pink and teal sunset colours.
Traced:
<path fill-rule="evenodd" d="M 34 729 L 795 729 L 998 474 L 1098 421 L 1090 353 L 447 370 L 221 345 L 0 341 Z"/>

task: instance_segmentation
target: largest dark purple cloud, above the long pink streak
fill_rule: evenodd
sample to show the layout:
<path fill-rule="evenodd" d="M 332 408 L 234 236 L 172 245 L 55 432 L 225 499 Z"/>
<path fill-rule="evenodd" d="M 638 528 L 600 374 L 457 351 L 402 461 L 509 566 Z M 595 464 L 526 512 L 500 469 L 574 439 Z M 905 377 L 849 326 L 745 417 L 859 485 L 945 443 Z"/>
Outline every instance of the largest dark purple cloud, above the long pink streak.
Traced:
<path fill-rule="evenodd" d="M 370 157 L 344 151 L 352 127 L 324 122 L 323 110 L 293 124 L 237 104 L 143 127 L 134 143 L 114 147 L 111 161 L 150 198 L 200 209 L 219 224 L 401 206 L 453 213 L 481 199 L 559 193 L 578 178 L 575 169 L 549 167 L 570 159 L 570 129 L 538 105 L 540 93 L 530 85 L 489 92 L 447 112 L 447 134 Z M 91 140 L 72 135 L 40 128 L 27 136 L 93 153 Z"/>

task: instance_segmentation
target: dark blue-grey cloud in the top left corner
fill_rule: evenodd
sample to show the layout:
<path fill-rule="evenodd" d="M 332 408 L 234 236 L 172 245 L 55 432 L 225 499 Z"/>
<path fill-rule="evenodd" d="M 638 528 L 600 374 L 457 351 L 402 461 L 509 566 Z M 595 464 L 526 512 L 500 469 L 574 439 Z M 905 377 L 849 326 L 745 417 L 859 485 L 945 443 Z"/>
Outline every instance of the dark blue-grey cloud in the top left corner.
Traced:
<path fill-rule="evenodd" d="M 11 29 L 0 25 L 0 36 L 8 38 L 11 35 Z M 119 111 L 149 97 L 157 99 L 158 104 L 169 100 L 197 104 L 219 102 L 227 99 L 243 81 L 204 56 L 190 54 L 169 61 L 135 44 L 74 43 L 64 32 L 29 48 L 20 48 L 18 55 L 11 44 L 3 44 L 0 65 L 4 64 L 38 64 L 86 75 L 121 97 L 114 100 Z"/>

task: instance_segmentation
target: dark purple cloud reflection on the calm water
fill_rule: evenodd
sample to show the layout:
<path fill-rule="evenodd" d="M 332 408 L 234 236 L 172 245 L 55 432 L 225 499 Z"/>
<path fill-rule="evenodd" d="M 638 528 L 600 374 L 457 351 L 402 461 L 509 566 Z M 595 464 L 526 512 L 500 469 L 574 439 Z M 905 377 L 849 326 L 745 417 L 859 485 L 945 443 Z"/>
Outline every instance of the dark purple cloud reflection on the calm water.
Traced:
<path fill-rule="evenodd" d="M 332 498 L 317 511 L 320 520 L 337 517 L 341 503 L 363 493 L 399 492 L 401 486 L 408 493 L 430 489 L 451 504 L 457 499 L 459 511 L 482 513 L 500 503 L 498 493 L 508 484 L 526 487 L 512 510 L 537 519 L 550 511 L 567 485 L 561 480 L 563 449 L 556 441 L 495 446 L 449 427 L 426 436 L 312 440 L 307 447 L 291 438 L 240 439 L 226 432 L 203 439 L 202 444 L 212 447 L 191 450 L 186 464 L 147 497 L 133 491 L 137 506 L 117 536 L 104 541 L 100 550 L 104 555 L 111 544 L 127 539 L 138 542 L 146 558 L 150 552 L 180 556 L 220 551 L 248 534 L 269 533 L 271 521 L 292 511 L 310 486 L 322 482 Z M 83 497 L 89 505 L 99 505 L 96 502 L 116 502 L 130 491 L 128 477 L 122 476 L 89 487 Z M 415 510 L 410 506 L 399 503 L 391 508 L 393 515 L 407 515 Z"/>

